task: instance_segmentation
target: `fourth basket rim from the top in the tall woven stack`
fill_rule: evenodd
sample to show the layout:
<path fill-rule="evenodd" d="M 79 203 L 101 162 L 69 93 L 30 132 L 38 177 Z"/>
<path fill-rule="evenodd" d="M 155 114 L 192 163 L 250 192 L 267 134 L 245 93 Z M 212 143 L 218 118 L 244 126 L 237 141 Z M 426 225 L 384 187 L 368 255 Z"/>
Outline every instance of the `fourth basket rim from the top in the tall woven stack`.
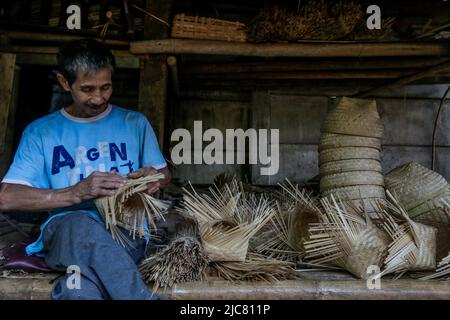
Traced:
<path fill-rule="evenodd" d="M 326 162 L 319 168 L 321 176 L 352 171 L 375 171 L 382 173 L 381 163 L 373 159 L 354 159 Z"/>

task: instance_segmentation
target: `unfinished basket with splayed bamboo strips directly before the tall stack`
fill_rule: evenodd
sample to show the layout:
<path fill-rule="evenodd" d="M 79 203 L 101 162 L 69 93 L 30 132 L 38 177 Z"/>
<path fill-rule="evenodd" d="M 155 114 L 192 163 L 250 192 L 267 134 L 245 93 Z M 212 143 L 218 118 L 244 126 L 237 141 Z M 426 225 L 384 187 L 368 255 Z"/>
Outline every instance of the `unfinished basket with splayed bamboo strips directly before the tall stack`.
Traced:
<path fill-rule="evenodd" d="M 314 264 L 340 266 L 366 279 L 368 267 L 381 267 L 389 238 L 351 201 L 323 198 L 320 222 L 310 225 L 306 258 Z"/>

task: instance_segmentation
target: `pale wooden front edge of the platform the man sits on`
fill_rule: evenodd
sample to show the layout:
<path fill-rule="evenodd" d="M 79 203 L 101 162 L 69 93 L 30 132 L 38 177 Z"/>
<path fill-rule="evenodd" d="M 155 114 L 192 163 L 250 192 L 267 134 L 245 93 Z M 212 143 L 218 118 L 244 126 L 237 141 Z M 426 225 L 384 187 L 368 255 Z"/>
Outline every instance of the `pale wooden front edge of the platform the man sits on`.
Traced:
<path fill-rule="evenodd" d="M 1 300 L 49 300 L 59 274 L 0 276 Z M 151 286 L 149 286 L 151 289 Z M 382 279 L 381 289 L 354 279 L 302 279 L 291 281 L 230 283 L 223 280 L 187 282 L 159 289 L 169 300 L 448 300 L 449 281 Z M 174 313 L 175 314 L 175 313 Z"/>

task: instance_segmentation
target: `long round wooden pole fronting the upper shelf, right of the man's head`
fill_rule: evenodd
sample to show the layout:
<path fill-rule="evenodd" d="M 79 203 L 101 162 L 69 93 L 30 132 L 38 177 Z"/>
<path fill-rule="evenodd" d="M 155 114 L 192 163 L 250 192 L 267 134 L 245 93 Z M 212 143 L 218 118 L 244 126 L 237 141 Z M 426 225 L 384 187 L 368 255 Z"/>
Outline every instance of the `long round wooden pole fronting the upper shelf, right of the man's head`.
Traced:
<path fill-rule="evenodd" d="M 301 42 L 252 44 L 214 40 L 166 39 L 130 43 L 134 54 L 207 54 L 250 57 L 450 56 L 450 44 Z"/>

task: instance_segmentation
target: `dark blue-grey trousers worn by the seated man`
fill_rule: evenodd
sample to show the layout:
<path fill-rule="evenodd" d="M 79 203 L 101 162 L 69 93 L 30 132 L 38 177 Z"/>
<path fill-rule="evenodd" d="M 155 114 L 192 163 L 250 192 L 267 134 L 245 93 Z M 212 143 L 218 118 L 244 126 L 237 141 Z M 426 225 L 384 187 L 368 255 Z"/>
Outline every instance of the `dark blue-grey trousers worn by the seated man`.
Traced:
<path fill-rule="evenodd" d="M 50 221 L 43 241 L 50 268 L 66 272 L 72 266 L 71 273 L 55 284 L 52 299 L 158 299 L 151 295 L 137 268 L 145 253 L 144 239 L 131 240 L 133 248 L 124 248 L 104 225 L 86 213 L 72 212 Z M 73 270 L 80 271 L 78 282 Z"/>

